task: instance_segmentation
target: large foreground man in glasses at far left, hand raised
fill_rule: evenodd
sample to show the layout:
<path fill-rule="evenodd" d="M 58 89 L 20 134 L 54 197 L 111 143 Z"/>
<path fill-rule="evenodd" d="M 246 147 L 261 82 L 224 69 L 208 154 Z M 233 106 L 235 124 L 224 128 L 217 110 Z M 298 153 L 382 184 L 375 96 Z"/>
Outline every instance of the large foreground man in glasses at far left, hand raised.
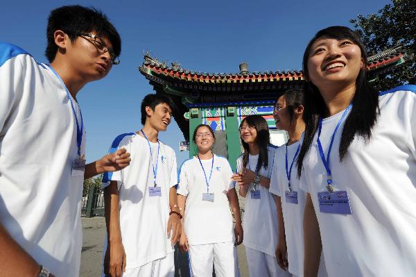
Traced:
<path fill-rule="evenodd" d="M 85 165 L 76 95 L 105 77 L 121 51 L 92 8 L 51 12 L 46 58 L 0 43 L 0 275 L 78 276 L 84 178 L 126 167 L 125 150 Z M 52 275 L 53 274 L 53 275 Z"/>

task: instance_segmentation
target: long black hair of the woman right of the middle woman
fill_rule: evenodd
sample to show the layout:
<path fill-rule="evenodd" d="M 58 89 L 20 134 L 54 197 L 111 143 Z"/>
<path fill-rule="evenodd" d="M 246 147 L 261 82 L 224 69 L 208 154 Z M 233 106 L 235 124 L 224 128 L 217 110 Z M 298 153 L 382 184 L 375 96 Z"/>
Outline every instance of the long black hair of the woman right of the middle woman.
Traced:
<path fill-rule="evenodd" d="M 261 167 L 268 167 L 268 144 L 270 144 L 270 133 L 268 130 L 268 124 L 266 119 L 262 117 L 261 115 L 249 115 L 248 117 L 245 117 L 241 121 L 241 124 L 239 126 L 239 130 L 241 129 L 241 126 L 246 123 L 248 126 L 252 126 L 256 128 L 257 131 L 257 137 L 256 137 L 256 143 L 259 146 L 260 152 L 259 152 L 259 160 L 257 160 L 257 167 L 256 172 L 259 172 Z M 248 143 L 244 142 L 244 140 L 241 138 L 241 144 L 243 145 L 244 153 L 243 153 L 243 167 L 247 167 L 248 164 Z"/>

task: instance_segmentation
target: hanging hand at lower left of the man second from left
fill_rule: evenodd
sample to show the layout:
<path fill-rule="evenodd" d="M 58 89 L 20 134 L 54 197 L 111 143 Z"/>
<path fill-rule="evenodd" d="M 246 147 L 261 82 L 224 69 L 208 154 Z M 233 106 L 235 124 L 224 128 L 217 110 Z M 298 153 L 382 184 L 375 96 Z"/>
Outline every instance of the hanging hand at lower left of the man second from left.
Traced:
<path fill-rule="evenodd" d="M 104 256 L 104 273 L 111 277 L 121 277 L 125 271 L 125 251 L 121 242 L 108 244 Z"/>

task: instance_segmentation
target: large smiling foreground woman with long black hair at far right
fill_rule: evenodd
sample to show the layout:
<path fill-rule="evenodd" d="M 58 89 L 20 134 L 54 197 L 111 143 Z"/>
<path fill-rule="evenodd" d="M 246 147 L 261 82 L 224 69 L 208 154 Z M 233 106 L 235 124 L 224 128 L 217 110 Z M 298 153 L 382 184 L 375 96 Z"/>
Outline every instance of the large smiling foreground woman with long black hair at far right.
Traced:
<path fill-rule="evenodd" d="M 304 52 L 304 276 L 321 247 L 329 276 L 416 276 L 416 86 L 376 92 L 366 66 L 343 26 Z"/>

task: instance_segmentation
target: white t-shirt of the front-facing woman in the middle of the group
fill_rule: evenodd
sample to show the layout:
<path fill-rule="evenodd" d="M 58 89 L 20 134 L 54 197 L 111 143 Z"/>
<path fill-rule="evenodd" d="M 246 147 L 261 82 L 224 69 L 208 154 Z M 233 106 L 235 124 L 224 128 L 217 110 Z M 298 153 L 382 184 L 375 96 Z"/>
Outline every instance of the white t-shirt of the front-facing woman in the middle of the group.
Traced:
<path fill-rule="evenodd" d="M 201 162 L 209 180 L 212 159 Z M 214 155 L 214 167 L 209 181 L 209 193 L 214 193 L 214 202 L 202 201 L 202 194 L 207 193 L 207 183 L 198 158 L 193 157 L 182 164 L 177 193 L 187 196 L 184 231 L 189 244 L 234 241 L 232 215 L 227 198 L 228 190 L 234 188 L 232 174 L 227 159 Z"/>

